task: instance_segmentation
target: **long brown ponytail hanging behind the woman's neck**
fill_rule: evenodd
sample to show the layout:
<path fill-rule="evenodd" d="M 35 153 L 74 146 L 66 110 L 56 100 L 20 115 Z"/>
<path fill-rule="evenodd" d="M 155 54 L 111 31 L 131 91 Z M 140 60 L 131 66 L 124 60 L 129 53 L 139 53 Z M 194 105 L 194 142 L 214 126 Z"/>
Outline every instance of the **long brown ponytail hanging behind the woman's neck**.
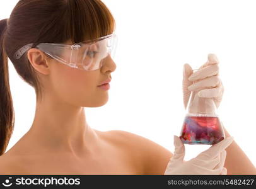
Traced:
<path fill-rule="evenodd" d="M 4 49 L 7 21 L 7 19 L 0 21 L 0 156 L 6 151 L 15 122 L 9 86 L 8 56 Z"/>

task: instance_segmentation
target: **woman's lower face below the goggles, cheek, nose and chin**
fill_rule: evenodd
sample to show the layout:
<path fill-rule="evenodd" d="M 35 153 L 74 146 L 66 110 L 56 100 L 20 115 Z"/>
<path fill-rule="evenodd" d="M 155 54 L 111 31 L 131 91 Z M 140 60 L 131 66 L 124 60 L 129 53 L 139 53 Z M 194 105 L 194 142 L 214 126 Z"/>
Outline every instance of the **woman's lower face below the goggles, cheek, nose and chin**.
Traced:
<path fill-rule="evenodd" d="M 60 99 L 61 103 L 83 107 L 98 107 L 107 103 L 108 91 L 98 86 L 111 79 L 110 74 L 116 69 L 110 55 L 103 59 L 103 66 L 95 71 L 72 68 L 54 59 L 50 61 L 52 95 Z"/>

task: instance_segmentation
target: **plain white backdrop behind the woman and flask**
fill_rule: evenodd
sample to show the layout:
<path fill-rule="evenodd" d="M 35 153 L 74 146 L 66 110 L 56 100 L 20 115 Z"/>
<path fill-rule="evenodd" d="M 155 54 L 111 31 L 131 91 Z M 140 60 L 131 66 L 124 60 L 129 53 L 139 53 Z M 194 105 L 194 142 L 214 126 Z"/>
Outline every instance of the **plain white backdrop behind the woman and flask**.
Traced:
<path fill-rule="evenodd" d="M 17 0 L 1 1 L 0 20 Z M 119 44 L 108 103 L 85 108 L 97 130 L 126 130 L 174 151 L 185 110 L 182 69 L 197 69 L 214 53 L 224 95 L 218 115 L 224 127 L 256 165 L 255 1 L 103 0 L 115 17 Z M 9 61 L 15 130 L 8 149 L 30 128 L 35 92 Z M 209 146 L 185 145 L 185 160 Z M 8 150 L 7 149 L 7 150 Z M 239 156 L 239 154 L 237 154 Z"/>

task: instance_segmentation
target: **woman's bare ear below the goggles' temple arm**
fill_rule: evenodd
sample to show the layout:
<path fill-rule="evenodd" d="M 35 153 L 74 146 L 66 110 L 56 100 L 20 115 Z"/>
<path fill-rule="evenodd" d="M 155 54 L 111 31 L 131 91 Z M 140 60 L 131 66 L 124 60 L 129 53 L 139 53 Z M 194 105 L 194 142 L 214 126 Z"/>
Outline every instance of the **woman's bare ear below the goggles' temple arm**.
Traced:
<path fill-rule="evenodd" d="M 35 48 L 28 50 L 28 60 L 33 68 L 41 74 L 48 75 L 50 73 L 49 59 L 41 50 Z"/>

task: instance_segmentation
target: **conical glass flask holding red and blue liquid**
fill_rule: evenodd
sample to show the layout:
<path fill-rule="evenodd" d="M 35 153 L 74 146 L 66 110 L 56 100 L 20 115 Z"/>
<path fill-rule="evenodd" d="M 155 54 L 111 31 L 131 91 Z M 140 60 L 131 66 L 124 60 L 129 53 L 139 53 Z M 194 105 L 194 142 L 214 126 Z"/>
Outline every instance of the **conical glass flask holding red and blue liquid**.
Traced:
<path fill-rule="evenodd" d="M 213 98 L 201 98 L 192 91 L 180 132 L 183 144 L 216 144 L 224 139 L 224 129 Z"/>

